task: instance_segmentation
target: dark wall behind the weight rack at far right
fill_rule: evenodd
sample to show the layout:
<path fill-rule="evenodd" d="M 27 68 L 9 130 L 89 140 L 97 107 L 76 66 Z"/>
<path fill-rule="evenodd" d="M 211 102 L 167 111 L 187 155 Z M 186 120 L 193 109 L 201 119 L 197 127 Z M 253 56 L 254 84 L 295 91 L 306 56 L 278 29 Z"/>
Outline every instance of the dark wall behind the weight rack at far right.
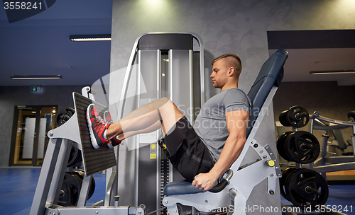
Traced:
<path fill-rule="evenodd" d="M 323 117 L 334 120 L 349 121 L 347 114 L 355 111 L 355 86 L 337 86 L 337 82 L 283 82 L 273 98 L 273 108 L 275 113 L 275 121 L 283 110 L 293 105 L 299 105 L 305 108 L 310 114 L 317 111 Z M 300 130 L 309 131 L 309 126 Z M 290 127 L 285 128 L 291 131 Z M 352 129 L 342 129 L 344 140 L 350 139 Z M 320 144 L 322 144 L 322 131 L 315 131 Z M 330 134 L 330 133 L 329 133 Z M 330 138 L 334 136 L 330 134 Z M 351 147 L 345 150 L 352 151 Z M 336 150 L 341 154 L 341 151 Z"/>

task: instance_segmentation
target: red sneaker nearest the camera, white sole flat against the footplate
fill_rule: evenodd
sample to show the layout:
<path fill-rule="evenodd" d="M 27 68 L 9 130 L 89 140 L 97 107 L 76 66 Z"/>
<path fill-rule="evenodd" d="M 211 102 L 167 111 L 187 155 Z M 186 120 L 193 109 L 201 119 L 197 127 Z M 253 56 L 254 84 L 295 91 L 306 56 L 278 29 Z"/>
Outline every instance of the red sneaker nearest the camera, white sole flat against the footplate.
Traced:
<path fill-rule="evenodd" d="M 110 124 L 102 120 L 102 117 L 99 115 L 99 112 L 97 112 L 97 108 L 94 104 L 87 107 L 86 116 L 92 146 L 94 146 L 95 149 L 99 149 L 100 147 L 107 145 L 109 140 L 104 138 L 104 132 L 109 128 Z"/>

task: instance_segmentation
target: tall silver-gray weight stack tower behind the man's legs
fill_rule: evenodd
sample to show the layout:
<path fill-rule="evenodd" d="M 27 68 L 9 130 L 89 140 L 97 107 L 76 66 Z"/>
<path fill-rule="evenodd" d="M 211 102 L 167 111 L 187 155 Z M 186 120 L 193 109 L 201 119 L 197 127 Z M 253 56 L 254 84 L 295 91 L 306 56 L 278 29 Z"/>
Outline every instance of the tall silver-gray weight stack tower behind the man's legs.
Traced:
<path fill-rule="evenodd" d="M 204 103 L 203 51 L 202 40 L 194 33 L 140 35 L 132 48 L 119 103 L 110 111 L 121 119 L 142 105 L 168 97 L 193 124 Z M 145 204 L 147 211 L 159 210 L 165 185 L 182 179 L 158 146 L 163 144 L 162 136 L 161 129 L 131 136 L 124 141 L 127 147 L 116 152 L 118 173 L 129 178 L 118 183 L 119 194 L 125 196 L 123 204 Z M 134 174 L 127 175 L 127 169 Z M 163 213 L 166 210 L 156 212 Z"/>

